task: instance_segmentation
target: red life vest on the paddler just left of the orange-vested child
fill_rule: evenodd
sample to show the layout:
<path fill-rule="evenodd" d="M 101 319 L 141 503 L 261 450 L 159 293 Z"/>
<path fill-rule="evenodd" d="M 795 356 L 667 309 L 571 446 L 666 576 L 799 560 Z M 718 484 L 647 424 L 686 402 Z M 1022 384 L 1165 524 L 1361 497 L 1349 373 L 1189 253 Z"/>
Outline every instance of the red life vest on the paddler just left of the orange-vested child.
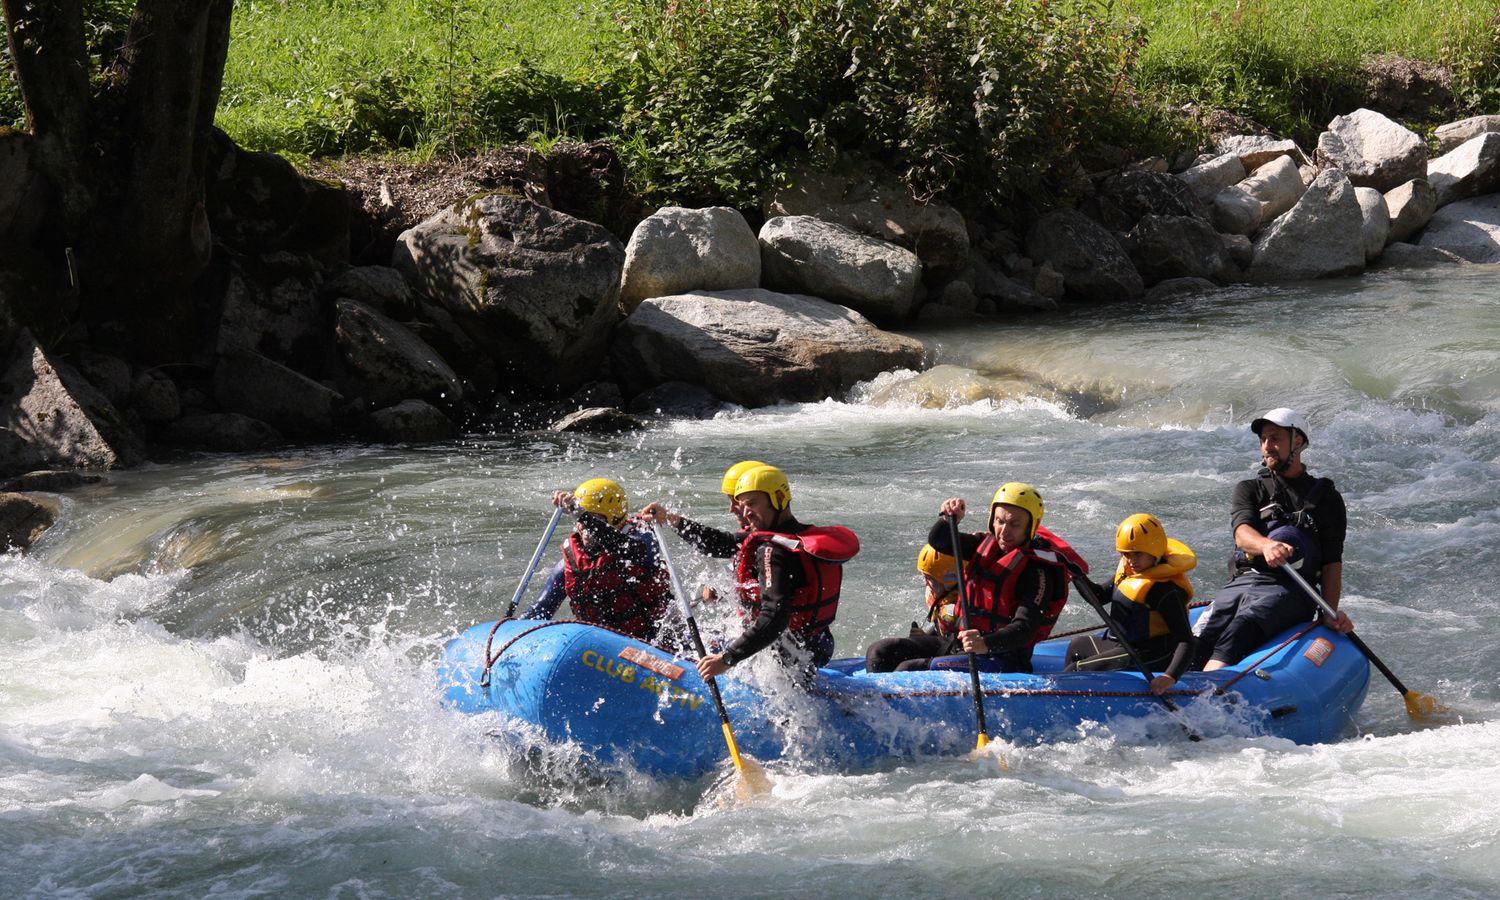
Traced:
<path fill-rule="evenodd" d="M 1008 554 L 1000 550 L 1000 543 L 994 540 L 993 534 L 986 534 L 984 540 L 980 542 L 980 549 L 975 550 L 964 568 L 969 582 L 968 627 L 988 634 L 1010 624 L 1020 606 L 1016 588 L 1022 573 L 1030 566 L 1052 566 L 1062 570 L 1062 590 L 1054 597 L 1041 597 L 1036 603 L 1041 608 L 1041 626 L 1032 633 L 1028 646 L 1046 640 L 1052 634 L 1052 627 L 1058 624 L 1062 608 L 1068 603 L 1071 576 L 1064 558 L 1088 573 L 1089 566 L 1083 556 L 1078 556 L 1077 550 L 1065 540 L 1046 528 L 1038 528 L 1036 537 L 1029 544 Z M 1041 584 L 1047 584 L 1046 578 Z"/>

